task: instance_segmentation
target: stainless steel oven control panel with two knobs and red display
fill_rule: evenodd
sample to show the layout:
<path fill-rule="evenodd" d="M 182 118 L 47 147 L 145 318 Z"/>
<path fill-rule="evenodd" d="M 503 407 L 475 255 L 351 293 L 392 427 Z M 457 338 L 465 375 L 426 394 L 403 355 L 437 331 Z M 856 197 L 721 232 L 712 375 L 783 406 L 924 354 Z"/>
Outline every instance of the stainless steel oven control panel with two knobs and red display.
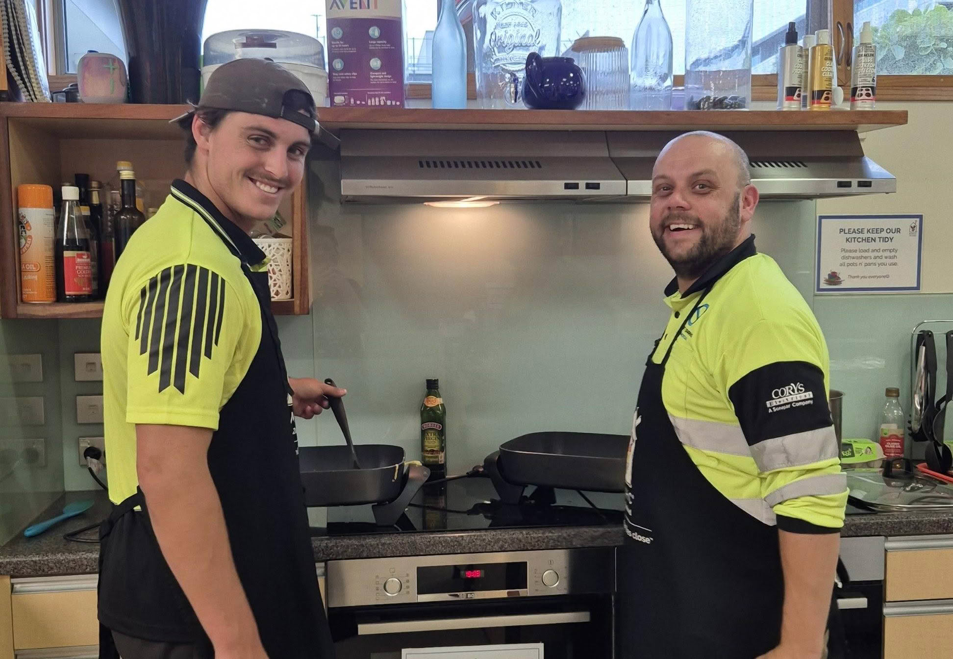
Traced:
<path fill-rule="evenodd" d="M 611 547 L 330 561 L 328 606 L 611 592 Z"/>

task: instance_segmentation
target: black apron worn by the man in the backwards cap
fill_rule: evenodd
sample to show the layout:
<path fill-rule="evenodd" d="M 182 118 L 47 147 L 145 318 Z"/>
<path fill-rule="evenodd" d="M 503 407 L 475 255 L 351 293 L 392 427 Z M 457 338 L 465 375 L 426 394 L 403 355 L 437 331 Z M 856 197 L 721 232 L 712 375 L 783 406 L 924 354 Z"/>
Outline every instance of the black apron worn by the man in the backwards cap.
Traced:
<path fill-rule="evenodd" d="M 253 272 L 224 242 L 242 261 L 261 311 L 258 350 L 222 407 L 208 452 L 235 569 L 270 657 L 334 657 L 317 586 L 292 390 L 271 312 L 268 273 Z M 133 510 L 137 505 L 141 512 Z M 209 644 L 162 557 L 141 490 L 114 507 L 100 538 L 100 659 L 118 657 L 110 629 L 144 640 Z"/>

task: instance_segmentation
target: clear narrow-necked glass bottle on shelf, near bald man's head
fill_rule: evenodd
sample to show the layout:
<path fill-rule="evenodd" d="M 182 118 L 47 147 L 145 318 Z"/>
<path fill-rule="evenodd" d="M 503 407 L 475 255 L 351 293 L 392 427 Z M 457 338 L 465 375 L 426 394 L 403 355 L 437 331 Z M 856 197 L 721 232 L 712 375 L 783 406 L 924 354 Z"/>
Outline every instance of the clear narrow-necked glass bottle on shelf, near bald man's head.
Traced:
<path fill-rule="evenodd" d="M 661 12 L 661 0 L 645 1 L 630 52 L 630 109 L 671 110 L 672 31 Z"/>

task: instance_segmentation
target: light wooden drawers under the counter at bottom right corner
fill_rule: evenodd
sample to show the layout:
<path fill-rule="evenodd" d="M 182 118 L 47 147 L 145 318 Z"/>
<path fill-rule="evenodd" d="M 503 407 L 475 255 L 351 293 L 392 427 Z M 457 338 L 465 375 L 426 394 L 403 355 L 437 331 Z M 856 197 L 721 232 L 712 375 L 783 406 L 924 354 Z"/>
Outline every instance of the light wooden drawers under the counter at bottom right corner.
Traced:
<path fill-rule="evenodd" d="M 953 536 L 885 543 L 883 659 L 945 656 L 953 639 Z"/>

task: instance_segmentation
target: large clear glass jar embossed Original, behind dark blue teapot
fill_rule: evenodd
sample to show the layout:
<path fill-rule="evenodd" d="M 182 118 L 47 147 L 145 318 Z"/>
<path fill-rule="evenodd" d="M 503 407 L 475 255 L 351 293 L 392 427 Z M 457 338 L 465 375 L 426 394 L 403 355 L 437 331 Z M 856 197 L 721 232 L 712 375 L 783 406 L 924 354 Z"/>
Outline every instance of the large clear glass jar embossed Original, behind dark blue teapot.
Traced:
<path fill-rule="evenodd" d="M 487 109 L 525 107 L 513 78 L 521 89 L 529 53 L 560 53 L 562 0 L 476 0 L 473 15 L 476 98 Z"/>

